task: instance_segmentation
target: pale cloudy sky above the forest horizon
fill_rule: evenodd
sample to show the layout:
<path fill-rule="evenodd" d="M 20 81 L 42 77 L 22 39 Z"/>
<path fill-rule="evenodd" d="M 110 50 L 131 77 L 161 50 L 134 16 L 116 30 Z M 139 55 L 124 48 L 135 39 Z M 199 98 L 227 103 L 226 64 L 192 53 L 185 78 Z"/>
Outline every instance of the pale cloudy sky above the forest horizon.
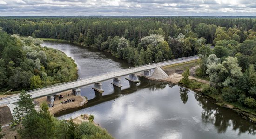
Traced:
<path fill-rule="evenodd" d="M 256 16 L 256 0 L 0 0 L 0 16 Z"/>

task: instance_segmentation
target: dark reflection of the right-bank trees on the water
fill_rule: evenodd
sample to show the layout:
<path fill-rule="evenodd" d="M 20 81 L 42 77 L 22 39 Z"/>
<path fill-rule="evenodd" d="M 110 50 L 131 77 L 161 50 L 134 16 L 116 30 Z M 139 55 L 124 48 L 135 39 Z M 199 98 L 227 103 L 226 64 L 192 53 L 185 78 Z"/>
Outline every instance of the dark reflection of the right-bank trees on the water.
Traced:
<path fill-rule="evenodd" d="M 195 93 L 194 96 L 203 108 L 202 121 L 212 123 L 218 133 L 225 133 L 227 128 L 232 126 L 233 130 L 239 130 L 238 135 L 241 133 L 256 134 L 256 124 L 242 119 L 240 115 L 232 110 L 217 106 L 200 93 Z"/>

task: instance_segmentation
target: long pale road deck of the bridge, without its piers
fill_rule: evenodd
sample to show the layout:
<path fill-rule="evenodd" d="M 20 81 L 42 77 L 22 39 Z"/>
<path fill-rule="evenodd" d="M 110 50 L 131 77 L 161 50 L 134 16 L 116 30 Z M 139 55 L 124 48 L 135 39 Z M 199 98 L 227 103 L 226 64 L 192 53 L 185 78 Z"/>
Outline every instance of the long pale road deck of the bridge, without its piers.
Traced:
<path fill-rule="evenodd" d="M 86 86 L 86 85 L 93 84 L 96 82 L 102 82 L 105 80 L 113 79 L 115 77 L 126 76 L 126 75 L 130 75 L 130 74 L 138 73 L 141 71 L 145 71 L 148 69 L 153 69 L 153 68 L 162 67 L 162 66 L 166 66 L 166 65 L 172 65 L 172 64 L 176 64 L 176 63 L 188 62 L 188 61 L 192 61 L 195 59 L 199 59 L 199 57 L 196 55 L 196 56 L 191 56 L 191 57 L 184 57 L 183 60 L 174 59 L 174 60 L 169 60 L 169 61 L 160 62 L 160 63 L 132 67 L 129 69 L 122 69 L 119 71 L 108 72 L 108 73 L 104 73 L 104 74 L 97 75 L 97 76 L 92 76 L 92 77 L 88 77 L 88 78 L 84 78 L 84 79 L 78 79 L 75 81 L 65 82 L 65 83 L 56 84 L 56 85 L 45 87 L 45 88 L 39 88 L 39 89 L 27 91 L 27 93 L 32 95 L 32 98 L 35 99 L 35 98 L 39 98 L 39 97 L 43 97 L 43 96 L 47 96 L 47 95 L 53 95 L 53 94 L 67 91 L 70 89 Z M 1 100 L 0 105 L 9 104 L 9 103 L 17 103 L 18 99 L 19 99 L 19 94 L 13 95 L 10 98 Z"/>

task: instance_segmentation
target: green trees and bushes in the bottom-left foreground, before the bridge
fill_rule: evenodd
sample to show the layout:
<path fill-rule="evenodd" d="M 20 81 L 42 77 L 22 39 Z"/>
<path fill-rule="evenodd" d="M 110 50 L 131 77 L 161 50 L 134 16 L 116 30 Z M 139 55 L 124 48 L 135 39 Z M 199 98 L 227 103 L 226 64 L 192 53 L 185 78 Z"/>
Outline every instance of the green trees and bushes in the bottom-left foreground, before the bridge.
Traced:
<path fill-rule="evenodd" d="M 105 129 L 95 126 L 93 119 L 89 121 L 77 125 L 73 120 L 57 120 L 49 113 L 46 103 L 36 111 L 33 99 L 21 91 L 10 126 L 21 139 L 113 139 Z"/>

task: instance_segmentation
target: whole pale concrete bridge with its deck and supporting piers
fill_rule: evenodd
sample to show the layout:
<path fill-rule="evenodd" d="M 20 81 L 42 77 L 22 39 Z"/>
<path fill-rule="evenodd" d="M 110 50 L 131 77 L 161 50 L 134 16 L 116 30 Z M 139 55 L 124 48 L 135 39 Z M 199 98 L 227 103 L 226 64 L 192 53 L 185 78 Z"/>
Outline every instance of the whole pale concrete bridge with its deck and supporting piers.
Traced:
<path fill-rule="evenodd" d="M 120 81 L 121 76 L 129 75 L 128 78 L 126 79 L 136 83 L 136 82 L 140 82 L 138 76 L 136 76 L 135 74 L 138 72 L 144 72 L 144 76 L 152 76 L 155 73 L 159 73 L 158 75 L 160 75 L 160 78 L 166 78 L 168 77 L 168 75 L 160 67 L 172 65 L 176 63 L 188 62 L 195 59 L 199 59 L 198 55 L 191 56 L 191 57 L 183 57 L 182 59 L 173 59 L 173 60 L 164 61 L 160 63 L 147 64 L 147 65 L 132 67 L 128 69 L 121 69 L 119 71 L 108 72 L 108 73 L 104 73 L 97 76 L 92 76 L 84 79 L 78 79 L 70 82 L 55 84 L 53 86 L 30 90 L 30 91 L 27 91 L 27 93 L 30 94 L 33 99 L 47 96 L 47 100 L 49 100 L 50 102 L 54 101 L 53 95 L 57 95 L 58 93 L 64 92 L 67 90 L 72 90 L 72 93 L 78 96 L 80 95 L 79 87 L 83 87 L 89 84 L 94 84 L 93 89 L 95 90 L 95 92 L 103 93 L 104 90 L 102 88 L 101 82 L 105 80 L 113 79 L 113 82 L 112 82 L 113 86 L 121 88 L 122 86 Z M 9 98 L 4 98 L 0 100 L 0 105 L 8 104 L 8 106 L 10 107 L 13 104 L 17 103 L 19 101 L 18 99 L 19 99 L 19 94 L 13 95 Z"/>

